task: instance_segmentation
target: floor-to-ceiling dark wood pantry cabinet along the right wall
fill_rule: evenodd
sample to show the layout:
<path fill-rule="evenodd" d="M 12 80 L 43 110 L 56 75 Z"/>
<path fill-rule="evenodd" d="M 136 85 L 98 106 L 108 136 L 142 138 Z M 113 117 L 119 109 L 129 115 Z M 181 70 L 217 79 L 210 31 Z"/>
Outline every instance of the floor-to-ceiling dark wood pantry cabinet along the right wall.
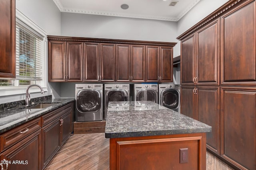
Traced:
<path fill-rule="evenodd" d="M 256 2 L 230 0 L 181 41 L 181 113 L 210 126 L 207 150 L 256 169 Z"/>

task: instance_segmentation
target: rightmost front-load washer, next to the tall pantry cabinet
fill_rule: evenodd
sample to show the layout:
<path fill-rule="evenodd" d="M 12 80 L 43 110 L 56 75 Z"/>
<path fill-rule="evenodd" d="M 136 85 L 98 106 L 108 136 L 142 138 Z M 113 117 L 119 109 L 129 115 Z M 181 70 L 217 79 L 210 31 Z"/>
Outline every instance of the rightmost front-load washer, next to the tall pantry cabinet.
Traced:
<path fill-rule="evenodd" d="M 180 107 L 180 92 L 174 89 L 174 84 L 158 84 L 159 104 L 178 112 Z"/>

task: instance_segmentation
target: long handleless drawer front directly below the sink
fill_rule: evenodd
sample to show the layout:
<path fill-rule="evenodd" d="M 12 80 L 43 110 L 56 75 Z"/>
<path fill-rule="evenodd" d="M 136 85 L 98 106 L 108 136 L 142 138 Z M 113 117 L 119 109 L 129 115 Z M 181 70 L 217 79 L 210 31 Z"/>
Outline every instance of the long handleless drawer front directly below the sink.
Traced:
<path fill-rule="evenodd" d="M 68 111 L 71 111 L 71 104 L 67 104 L 63 107 L 60 107 L 59 109 L 56 109 L 54 111 L 51 111 L 50 113 L 43 115 L 42 116 L 42 127 L 44 125 L 50 123 L 54 119 L 60 117 L 61 115 L 63 115 L 64 113 L 66 113 Z"/>

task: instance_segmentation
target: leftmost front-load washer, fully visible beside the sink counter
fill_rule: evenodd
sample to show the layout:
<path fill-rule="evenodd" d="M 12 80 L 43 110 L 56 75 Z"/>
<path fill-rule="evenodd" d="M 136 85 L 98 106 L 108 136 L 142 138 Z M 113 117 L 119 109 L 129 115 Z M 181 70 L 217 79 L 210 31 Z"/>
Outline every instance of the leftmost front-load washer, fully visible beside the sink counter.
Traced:
<path fill-rule="evenodd" d="M 76 84 L 76 121 L 102 121 L 103 84 Z"/>

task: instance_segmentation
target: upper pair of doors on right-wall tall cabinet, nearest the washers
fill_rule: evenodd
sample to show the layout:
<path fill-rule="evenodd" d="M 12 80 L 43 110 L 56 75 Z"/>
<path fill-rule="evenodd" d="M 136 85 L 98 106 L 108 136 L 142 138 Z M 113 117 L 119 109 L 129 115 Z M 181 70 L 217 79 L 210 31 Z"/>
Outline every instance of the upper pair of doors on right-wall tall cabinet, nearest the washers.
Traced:
<path fill-rule="evenodd" d="M 181 84 L 219 85 L 219 20 L 181 41 Z"/>

